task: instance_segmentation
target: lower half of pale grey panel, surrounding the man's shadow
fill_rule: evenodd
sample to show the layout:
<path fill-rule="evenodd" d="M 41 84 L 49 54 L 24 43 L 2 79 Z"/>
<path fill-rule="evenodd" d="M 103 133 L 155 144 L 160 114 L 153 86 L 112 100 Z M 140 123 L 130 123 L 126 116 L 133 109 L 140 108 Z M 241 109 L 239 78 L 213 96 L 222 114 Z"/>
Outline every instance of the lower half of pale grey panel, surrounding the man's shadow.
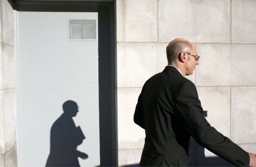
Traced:
<path fill-rule="evenodd" d="M 86 139 L 77 150 L 89 158 L 79 158 L 81 166 L 99 165 L 98 88 L 20 89 L 20 123 L 23 166 L 44 166 L 50 151 L 50 130 L 63 113 L 62 104 L 73 100 L 80 107 L 73 117 Z M 26 98 L 24 98 L 26 97 Z"/>

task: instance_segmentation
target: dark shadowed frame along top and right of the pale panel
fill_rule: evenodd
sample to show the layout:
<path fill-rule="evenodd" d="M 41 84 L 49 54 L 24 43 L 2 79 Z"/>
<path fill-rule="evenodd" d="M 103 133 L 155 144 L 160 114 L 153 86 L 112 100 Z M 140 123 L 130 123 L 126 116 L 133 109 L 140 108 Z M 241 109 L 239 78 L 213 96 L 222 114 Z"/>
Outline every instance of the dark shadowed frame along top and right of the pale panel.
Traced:
<path fill-rule="evenodd" d="M 100 166 L 118 166 L 114 2 L 14 1 L 14 10 L 98 12 Z"/>

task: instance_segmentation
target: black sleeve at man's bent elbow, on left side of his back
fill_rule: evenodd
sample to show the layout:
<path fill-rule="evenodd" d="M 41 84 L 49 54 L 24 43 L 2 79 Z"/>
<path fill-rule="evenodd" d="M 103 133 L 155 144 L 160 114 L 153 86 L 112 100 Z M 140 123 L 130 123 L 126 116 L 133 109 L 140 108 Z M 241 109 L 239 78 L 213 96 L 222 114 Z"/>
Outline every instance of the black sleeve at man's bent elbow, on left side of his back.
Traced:
<path fill-rule="evenodd" d="M 133 115 L 133 121 L 143 129 L 145 129 L 141 96 L 142 96 L 142 93 L 139 95 L 139 98 L 138 98 L 138 103 L 136 105 L 135 112 Z"/>

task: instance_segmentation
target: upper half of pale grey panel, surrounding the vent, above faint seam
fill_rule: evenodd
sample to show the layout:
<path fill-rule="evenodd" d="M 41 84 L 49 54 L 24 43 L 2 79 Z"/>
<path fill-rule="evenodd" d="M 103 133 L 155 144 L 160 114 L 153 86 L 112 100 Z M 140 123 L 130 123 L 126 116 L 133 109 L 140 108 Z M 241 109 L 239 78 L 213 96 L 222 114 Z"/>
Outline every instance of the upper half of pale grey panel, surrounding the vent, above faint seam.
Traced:
<path fill-rule="evenodd" d="M 98 41 L 67 41 L 70 17 L 98 18 L 98 15 L 19 12 L 20 87 L 98 86 Z"/>

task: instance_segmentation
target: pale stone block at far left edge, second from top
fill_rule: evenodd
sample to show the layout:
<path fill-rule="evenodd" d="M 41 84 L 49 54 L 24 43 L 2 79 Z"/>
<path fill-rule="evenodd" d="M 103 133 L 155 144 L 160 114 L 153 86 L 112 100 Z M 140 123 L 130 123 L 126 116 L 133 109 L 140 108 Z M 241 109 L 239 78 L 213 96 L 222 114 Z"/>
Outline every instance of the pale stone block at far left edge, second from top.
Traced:
<path fill-rule="evenodd" d="M 0 44 L 0 63 L 2 75 L 0 89 L 15 87 L 15 54 L 14 47 L 7 44 Z M 0 68 L 1 68 L 0 67 Z"/>

